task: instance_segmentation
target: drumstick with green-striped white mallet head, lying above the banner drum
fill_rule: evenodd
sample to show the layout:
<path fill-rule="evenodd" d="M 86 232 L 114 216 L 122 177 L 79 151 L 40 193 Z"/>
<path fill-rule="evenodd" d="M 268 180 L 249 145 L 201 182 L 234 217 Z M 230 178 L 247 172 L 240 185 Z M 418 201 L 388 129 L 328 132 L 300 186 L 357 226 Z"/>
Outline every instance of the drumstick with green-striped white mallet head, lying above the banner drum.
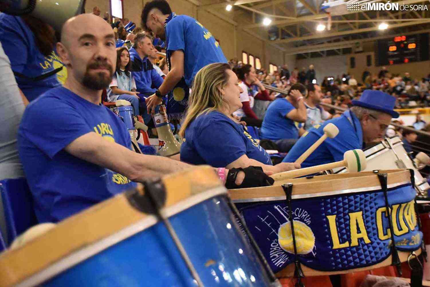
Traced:
<path fill-rule="evenodd" d="M 366 168 L 367 160 L 362 150 L 347 150 L 344 153 L 344 159 L 338 162 L 326 163 L 323 165 L 315 165 L 308 168 L 300 168 L 290 170 L 288 172 L 279 172 L 270 175 L 275 181 L 280 181 L 289 178 L 297 178 L 304 175 L 310 175 L 325 170 L 339 168 L 345 166 L 348 172 L 361 172 Z"/>

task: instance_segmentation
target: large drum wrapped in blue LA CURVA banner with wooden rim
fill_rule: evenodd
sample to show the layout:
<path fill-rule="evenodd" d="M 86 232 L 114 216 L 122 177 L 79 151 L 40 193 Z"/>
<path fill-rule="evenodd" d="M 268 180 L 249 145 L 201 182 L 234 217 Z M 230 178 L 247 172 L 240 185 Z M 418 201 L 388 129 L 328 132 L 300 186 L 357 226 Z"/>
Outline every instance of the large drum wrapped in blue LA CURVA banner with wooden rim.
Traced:
<path fill-rule="evenodd" d="M 230 196 L 278 276 L 297 262 L 307 276 L 373 269 L 421 248 L 410 170 L 288 179 Z"/>

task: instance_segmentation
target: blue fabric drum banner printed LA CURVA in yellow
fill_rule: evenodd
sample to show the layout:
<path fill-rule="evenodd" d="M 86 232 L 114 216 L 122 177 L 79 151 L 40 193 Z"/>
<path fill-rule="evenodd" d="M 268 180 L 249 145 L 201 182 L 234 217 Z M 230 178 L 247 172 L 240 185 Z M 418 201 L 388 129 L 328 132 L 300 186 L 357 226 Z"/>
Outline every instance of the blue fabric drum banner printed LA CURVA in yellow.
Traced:
<path fill-rule="evenodd" d="M 301 264 L 319 271 L 340 271 L 387 259 L 391 232 L 398 250 L 421 246 L 415 190 L 406 184 L 388 189 L 387 194 L 393 231 L 381 190 L 293 199 L 293 218 L 286 200 L 238 203 L 237 207 L 274 272 L 295 259 L 291 220 Z"/>

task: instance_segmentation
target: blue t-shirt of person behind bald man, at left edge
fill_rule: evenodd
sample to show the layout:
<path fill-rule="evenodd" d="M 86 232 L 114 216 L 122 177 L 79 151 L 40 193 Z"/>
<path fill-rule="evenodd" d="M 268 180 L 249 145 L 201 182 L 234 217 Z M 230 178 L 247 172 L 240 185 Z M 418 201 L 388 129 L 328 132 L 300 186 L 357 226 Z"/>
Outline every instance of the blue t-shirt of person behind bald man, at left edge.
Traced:
<path fill-rule="evenodd" d="M 55 50 L 49 56 L 40 53 L 33 32 L 21 17 L 0 13 L 0 42 L 9 57 L 12 71 L 27 77 L 15 75 L 18 87 L 29 101 L 53 87 L 60 86 L 66 80 L 65 67 L 42 80 L 29 79 L 52 72 L 62 67 L 63 63 Z"/>

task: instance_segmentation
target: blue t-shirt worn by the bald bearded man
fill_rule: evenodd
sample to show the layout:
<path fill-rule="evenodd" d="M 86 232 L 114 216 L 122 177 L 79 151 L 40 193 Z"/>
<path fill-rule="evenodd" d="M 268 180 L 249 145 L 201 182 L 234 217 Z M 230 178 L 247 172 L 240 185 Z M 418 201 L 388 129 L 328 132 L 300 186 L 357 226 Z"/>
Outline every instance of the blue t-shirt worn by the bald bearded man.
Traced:
<path fill-rule="evenodd" d="M 63 150 L 89 132 L 131 146 L 126 126 L 117 115 L 64 87 L 49 90 L 25 109 L 18 151 L 40 222 L 60 221 L 135 187 L 125 176 Z"/>

